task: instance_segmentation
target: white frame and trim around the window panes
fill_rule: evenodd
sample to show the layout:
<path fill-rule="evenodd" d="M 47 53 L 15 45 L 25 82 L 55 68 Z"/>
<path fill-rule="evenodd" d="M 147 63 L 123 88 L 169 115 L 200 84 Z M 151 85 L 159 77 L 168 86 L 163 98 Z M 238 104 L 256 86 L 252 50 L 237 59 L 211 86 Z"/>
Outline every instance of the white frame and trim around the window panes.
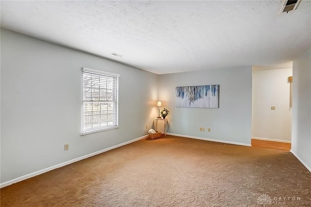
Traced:
<path fill-rule="evenodd" d="M 112 103 L 113 105 L 116 105 L 115 112 L 113 113 L 113 116 L 115 114 L 116 116 L 116 123 L 113 124 L 112 126 L 107 126 L 107 127 L 100 127 L 100 128 L 95 128 L 95 129 L 86 129 L 84 128 L 84 104 L 85 103 L 92 103 L 93 101 L 86 101 L 84 100 L 84 73 L 89 72 L 89 74 L 95 74 L 95 75 L 100 75 L 103 77 L 112 77 L 116 78 L 116 83 L 113 81 L 113 94 L 115 94 L 116 100 L 113 100 Z M 107 130 L 113 130 L 113 129 L 118 129 L 119 128 L 119 74 L 115 73 L 110 73 L 110 72 L 105 72 L 102 70 L 96 70 L 96 69 L 89 69 L 89 68 L 82 68 L 81 69 L 81 136 L 86 135 L 86 134 L 91 134 L 91 133 L 96 133 L 96 132 L 102 132 L 102 131 L 107 131 Z M 114 86 L 114 83 L 116 86 Z M 116 91 L 115 91 L 116 90 Z M 103 102 L 104 101 L 96 101 L 96 102 Z M 105 101 L 107 102 L 107 101 Z M 93 115 L 92 115 L 93 116 Z"/>

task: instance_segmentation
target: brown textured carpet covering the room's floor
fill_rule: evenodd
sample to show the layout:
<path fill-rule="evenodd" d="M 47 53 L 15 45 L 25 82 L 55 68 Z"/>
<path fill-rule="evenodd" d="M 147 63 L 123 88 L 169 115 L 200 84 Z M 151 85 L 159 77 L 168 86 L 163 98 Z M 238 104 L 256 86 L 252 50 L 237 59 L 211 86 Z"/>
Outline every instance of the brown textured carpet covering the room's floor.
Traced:
<path fill-rule="evenodd" d="M 0 193 L 1 207 L 311 206 L 311 173 L 290 152 L 167 136 Z"/>

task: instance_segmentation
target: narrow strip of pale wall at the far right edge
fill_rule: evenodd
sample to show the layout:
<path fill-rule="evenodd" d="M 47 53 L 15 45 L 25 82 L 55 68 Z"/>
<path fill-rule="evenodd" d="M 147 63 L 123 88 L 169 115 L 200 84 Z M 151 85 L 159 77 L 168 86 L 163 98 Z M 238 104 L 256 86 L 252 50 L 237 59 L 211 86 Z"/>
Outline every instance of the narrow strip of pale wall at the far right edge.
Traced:
<path fill-rule="evenodd" d="M 311 48 L 293 61 L 292 152 L 311 171 Z"/>

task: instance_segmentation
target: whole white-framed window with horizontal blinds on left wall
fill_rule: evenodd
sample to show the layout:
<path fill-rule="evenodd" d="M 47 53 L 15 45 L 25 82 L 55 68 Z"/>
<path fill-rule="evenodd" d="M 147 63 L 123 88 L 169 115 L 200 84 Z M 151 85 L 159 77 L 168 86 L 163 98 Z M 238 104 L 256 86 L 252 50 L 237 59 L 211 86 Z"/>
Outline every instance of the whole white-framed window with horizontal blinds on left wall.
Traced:
<path fill-rule="evenodd" d="M 81 135 L 118 128 L 118 74 L 82 69 Z"/>

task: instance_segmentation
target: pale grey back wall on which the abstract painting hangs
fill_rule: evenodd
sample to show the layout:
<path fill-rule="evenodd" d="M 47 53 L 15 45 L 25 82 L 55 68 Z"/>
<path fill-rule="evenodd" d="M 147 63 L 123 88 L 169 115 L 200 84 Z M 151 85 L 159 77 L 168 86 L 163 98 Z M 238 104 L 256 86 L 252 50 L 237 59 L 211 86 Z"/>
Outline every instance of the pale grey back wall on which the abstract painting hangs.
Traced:
<path fill-rule="evenodd" d="M 219 108 L 175 106 L 176 86 L 220 85 Z M 170 110 L 169 133 L 249 145 L 252 67 L 210 69 L 159 76 L 159 101 Z M 199 131 L 205 127 L 206 131 Z M 207 132 L 211 128 L 211 132 Z"/>

